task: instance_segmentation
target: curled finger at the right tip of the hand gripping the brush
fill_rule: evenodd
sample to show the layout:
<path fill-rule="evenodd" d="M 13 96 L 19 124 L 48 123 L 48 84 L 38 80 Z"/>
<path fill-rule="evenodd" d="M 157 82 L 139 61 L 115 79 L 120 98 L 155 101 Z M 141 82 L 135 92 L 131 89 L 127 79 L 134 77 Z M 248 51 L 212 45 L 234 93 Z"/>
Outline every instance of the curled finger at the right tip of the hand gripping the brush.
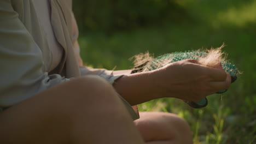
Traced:
<path fill-rule="evenodd" d="M 223 89 L 228 89 L 231 84 L 231 76 L 229 74 L 226 74 L 226 79 L 225 81 L 211 81 L 210 86 L 218 91 L 222 91 Z"/>

